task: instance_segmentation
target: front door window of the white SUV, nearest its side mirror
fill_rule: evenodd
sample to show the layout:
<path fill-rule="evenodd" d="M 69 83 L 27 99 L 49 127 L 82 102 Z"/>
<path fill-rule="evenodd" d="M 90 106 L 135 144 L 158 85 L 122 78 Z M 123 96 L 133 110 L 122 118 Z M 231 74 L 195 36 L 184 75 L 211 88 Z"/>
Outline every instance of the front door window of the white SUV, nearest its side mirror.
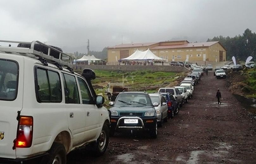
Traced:
<path fill-rule="evenodd" d="M 82 103 L 83 104 L 94 104 L 90 90 L 89 90 L 87 84 L 85 83 L 85 81 L 81 78 L 78 78 L 78 83 L 79 83 L 80 90 L 81 90 Z"/>

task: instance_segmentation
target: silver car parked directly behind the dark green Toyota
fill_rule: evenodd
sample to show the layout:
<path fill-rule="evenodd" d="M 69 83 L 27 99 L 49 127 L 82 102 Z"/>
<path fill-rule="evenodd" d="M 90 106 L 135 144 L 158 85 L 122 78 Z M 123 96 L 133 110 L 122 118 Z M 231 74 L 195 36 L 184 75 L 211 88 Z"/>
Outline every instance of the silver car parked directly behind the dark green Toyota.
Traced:
<path fill-rule="evenodd" d="M 149 94 L 152 103 L 158 103 L 158 106 L 155 106 L 156 109 L 156 116 L 157 116 L 157 123 L 158 126 L 163 126 L 163 122 L 167 122 L 168 120 L 168 106 L 166 103 L 166 99 L 160 93 L 151 93 Z"/>

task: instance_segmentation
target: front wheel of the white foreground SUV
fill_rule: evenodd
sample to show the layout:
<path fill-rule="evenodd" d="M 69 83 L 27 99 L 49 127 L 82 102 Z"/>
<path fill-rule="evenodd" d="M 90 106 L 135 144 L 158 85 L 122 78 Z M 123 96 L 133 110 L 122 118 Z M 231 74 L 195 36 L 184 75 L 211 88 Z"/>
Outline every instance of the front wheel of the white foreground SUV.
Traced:
<path fill-rule="evenodd" d="M 101 156 L 107 150 L 109 144 L 109 127 L 107 124 L 104 124 L 100 133 L 99 138 L 91 146 L 95 152 L 95 156 Z"/>

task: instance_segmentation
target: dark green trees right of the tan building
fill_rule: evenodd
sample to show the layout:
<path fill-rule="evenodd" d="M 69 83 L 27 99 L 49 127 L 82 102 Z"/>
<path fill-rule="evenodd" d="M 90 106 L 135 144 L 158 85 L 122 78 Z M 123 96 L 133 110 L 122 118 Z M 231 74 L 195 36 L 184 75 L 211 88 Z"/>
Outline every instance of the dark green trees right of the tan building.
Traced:
<path fill-rule="evenodd" d="M 207 40 L 207 42 L 219 41 L 227 49 L 227 60 L 235 56 L 237 60 L 245 61 L 248 56 L 256 59 L 256 33 L 246 29 L 242 35 L 233 38 L 217 36 Z"/>

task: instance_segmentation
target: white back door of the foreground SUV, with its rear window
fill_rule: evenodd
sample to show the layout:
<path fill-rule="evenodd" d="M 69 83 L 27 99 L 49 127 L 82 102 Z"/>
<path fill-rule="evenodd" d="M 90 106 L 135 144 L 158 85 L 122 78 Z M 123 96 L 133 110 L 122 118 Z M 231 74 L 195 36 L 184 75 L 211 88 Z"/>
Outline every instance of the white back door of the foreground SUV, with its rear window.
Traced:
<path fill-rule="evenodd" d="M 17 112 L 22 109 L 22 56 L 0 54 L 0 157 L 16 158 Z"/>

